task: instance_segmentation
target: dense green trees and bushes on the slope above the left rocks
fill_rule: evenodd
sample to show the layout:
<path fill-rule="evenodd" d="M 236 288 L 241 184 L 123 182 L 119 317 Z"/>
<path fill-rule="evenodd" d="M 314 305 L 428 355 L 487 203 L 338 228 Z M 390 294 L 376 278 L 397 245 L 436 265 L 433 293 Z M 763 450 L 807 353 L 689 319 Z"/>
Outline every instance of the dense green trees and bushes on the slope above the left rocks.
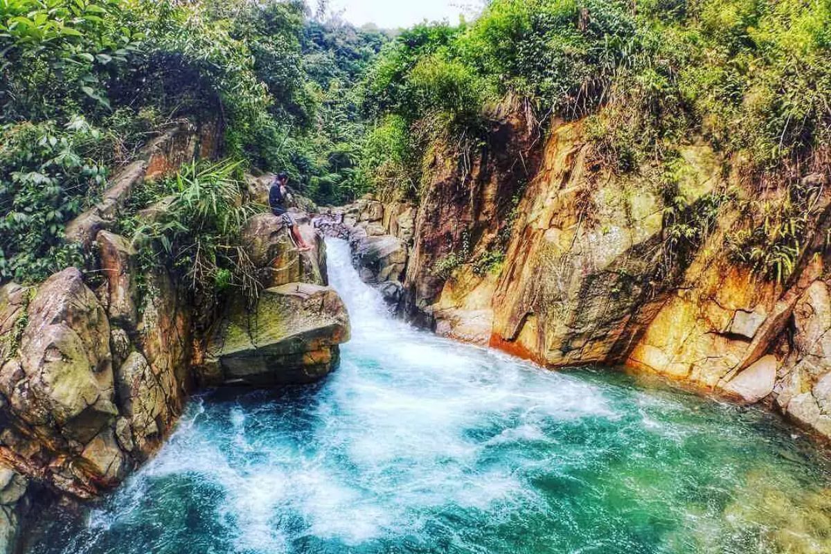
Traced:
<path fill-rule="evenodd" d="M 79 249 L 63 238 L 66 223 L 96 200 L 106 168 L 134 159 L 175 120 L 219 120 L 229 154 L 288 171 L 304 192 L 356 194 L 363 133 L 356 102 L 339 91 L 382 36 L 343 42 L 352 27 L 316 23 L 325 36 L 317 53 L 337 47 L 340 71 L 318 82 L 305 71 L 306 25 L 302 2 L 279 0 L 0 0 L 0 281 L 37 282 L 80 265 Z M 194 205 L 183 195 L 176 207 Z M 173 239 L 225 233 L 219 220 L 199 223 L 205 213 L 178 215 L 195 228 L 156 237 L 171 239 L 172 254 Z M 211 275 L 218 286 L 240 284 L 212 261 L 236 254 L 202 256 L 192 282 Z"/>

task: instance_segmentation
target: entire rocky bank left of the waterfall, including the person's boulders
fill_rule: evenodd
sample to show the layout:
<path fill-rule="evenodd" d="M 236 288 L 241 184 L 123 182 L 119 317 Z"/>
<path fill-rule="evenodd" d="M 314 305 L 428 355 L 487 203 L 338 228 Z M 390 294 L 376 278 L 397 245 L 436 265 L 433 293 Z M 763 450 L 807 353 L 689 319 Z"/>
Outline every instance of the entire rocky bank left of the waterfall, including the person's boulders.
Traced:
<path fill-rule="evenodd" d="M 270 213 L 246 223 L 256 298 L 196 297 L 164 264 L 141 267 L 133 243 L 112 232 L 143 180 L 213 158 L 218 132 L 176 125 L 111 179 L 67 228 L 89 267 L 0 287 L 0 552 L 12 552 L 32 503 L 96 498 L 145 462 L 196 387 L 307 383 L 337 364 L 349 320 L 304 213 L 294 215 L 310 252 Z"/>

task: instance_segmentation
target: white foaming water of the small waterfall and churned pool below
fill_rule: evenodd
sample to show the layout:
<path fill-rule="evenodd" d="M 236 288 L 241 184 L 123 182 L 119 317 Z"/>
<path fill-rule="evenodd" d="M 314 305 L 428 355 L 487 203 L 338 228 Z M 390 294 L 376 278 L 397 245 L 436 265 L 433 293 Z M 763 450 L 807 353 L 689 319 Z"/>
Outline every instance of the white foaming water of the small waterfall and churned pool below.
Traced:
<path fill-rule="evenodd" d="M 545 427 L 558 421 L 616 417 L 593 385 L 396 321 L 358 278 L 347 244 L 330 240 L 327 249 L 352 341 L 309 405 L 282 414 L 278 402 L 240 404 L 214 416 L 196 404 L 117 495 L 116 511 L 93 513 L 92 527 L 106 532 L 138 517 L 152 483 L 193 475 L 222 491 L 213 517 L 226 522 L 235 552 L 287 552 L 309 536 L 347 546 L 417 537 L 442 507 L 492 518 L 534 509 L 539 499 L 521 469 L 540 462 L 494 449 L 544 444 Z M 295 419 L 307 426 L 295 429 Z M 164 489 L 153 494 L 165 502 Z"/>

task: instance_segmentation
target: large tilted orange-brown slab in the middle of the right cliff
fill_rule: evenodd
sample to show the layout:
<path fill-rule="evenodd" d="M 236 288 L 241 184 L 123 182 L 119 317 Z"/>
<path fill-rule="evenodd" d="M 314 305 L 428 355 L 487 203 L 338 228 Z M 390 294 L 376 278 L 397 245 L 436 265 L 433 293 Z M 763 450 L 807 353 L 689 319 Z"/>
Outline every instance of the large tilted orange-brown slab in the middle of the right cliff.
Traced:
<path fill-rule="evenodd" d="M 687 154 L 695 202 L 717 183 L 718 166 L 707 150 Z M 591 155 L 580 122 L 553 131 L 519 203 L 494 296 L 494 334 L 524 342 L 552 366 L 615 360 L 659 289 L 660 191 L 602 169 Z"/>

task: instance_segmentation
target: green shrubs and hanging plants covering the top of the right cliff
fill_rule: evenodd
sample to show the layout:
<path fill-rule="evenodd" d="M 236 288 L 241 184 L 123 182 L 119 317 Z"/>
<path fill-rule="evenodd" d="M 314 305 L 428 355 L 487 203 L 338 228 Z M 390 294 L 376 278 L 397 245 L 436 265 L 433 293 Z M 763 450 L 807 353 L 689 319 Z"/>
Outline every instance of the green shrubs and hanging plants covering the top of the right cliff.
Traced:
<path fill-rule="evenodd" d="M 588 116 L 593 162 L 619 173 L 671 171 L 679 145 L 708 140 L 751 197 L 768 194 L 725 202 L 745 216 L 735 259 L 784 279 L 810 228 L 801 183 L 831 173 L 831 4 L 494 0 L 470 24 L 402 34 L 364 91 L 378 135 L 391 136 L 395 116 L 411 137 L 403 163 L 403 143 L 366 150 L 361 178 L 380 190 L 419 180 L 413 168 L 437 142 L 457 150 L 465 174 L 501 98 L 542 130 Z"/>

